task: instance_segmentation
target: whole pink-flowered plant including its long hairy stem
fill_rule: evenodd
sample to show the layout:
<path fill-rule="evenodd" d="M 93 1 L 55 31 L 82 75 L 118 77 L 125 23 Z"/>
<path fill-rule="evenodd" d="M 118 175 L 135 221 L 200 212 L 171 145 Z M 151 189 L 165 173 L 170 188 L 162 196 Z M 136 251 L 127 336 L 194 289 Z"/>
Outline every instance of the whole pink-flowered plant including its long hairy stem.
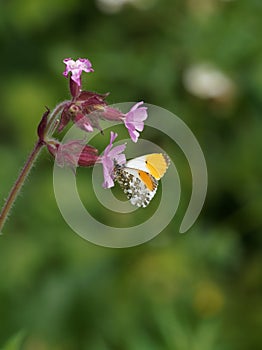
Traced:
<path fill-rule="evenodd" d="M 99 123 L 100 120 L 122 122 L 133 142 L 137 142 L 140 132 L 144 129 L 147 108 L 142 106 L 143 102 L 136 103 L 129 112 L 122 113 L 108 105 L 106 102 L 108 93 L 99 94 L 82 90 L 82 73 L 94 71 L 88 59 L 79 58 L 74 61 L 71 58 L 66 58 L 63 62 L 66 65 L 63 75 L 69 78 L 71 99 L 59 103 L 53 111 L 47 108 L 43 114 L 37 127 L 38 140 L 0 211 L 0 233 L 27 175 L 44 147 L 56 158 L 57 165 L 68 166 L 74 172 L 78 166 L 89 167 L 96 163 L 102 164 L 103 187 L 114 186 L 116 166 L 126 163 L 126 157 L 123 153 L 126 145 L 113 145 L 117 137 L 114 132 L 111 132 L 109 145 L 102 155 L 99 155 L 99 151 L 95 147 L 87 144 L 86 140 L 61 143 L 56 135 L 60 134 L 70 122 L 86 133 L 91 133 L 96 128 L 101 131 L 101 134 L 104 133 Z"/>

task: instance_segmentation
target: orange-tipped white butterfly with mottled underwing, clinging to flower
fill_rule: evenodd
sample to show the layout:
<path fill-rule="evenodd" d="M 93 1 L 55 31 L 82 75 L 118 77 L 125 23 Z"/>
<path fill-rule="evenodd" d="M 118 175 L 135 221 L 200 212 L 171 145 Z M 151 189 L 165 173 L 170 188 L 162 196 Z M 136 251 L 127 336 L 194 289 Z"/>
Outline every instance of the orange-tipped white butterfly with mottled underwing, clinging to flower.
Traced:
<path fill-rule="evenodd" d="M 114 167 L 114 180 L 120 185 L 130 203 L 145 208 L 157 191 L 160 180 L 170 164 L 166 154 L 151 153 Z"/>

